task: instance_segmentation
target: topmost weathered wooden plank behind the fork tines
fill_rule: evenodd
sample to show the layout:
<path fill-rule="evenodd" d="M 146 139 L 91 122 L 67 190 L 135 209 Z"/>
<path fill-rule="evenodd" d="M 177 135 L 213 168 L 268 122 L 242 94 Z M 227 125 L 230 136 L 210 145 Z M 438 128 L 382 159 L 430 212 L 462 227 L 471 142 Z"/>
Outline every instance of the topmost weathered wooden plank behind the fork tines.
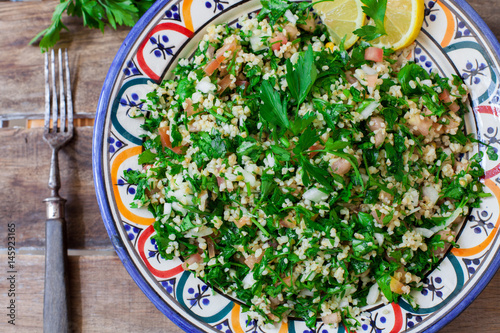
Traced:
<path fill-rule="evenodd" d="M 59 1 L 0 3 L 0 100 L 1 114 L 43 113 L 44 56 L 38 46 L 28 45 L 38 32 L 50 24 Z M 117 31 L 82 28 L 79 18 L 65 17 L 60 48 L 68 48 L 75 112 L 95 113 L 99 94 L 109 66 L 130 28 Z"/>

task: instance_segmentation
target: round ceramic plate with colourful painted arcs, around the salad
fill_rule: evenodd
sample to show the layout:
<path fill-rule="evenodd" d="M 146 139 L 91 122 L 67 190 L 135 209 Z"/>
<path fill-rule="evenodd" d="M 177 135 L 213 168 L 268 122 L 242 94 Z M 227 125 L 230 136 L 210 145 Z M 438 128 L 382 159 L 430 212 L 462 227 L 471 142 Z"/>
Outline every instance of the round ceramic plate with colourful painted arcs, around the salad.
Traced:
<path fill-rule="evenodd" d="M 135 186 L 123 171 L 138 169 L 141 119 L 129 110 L 142 108 L 148 82 L 169 75 L 179 57 L 188 57 L 208 24 L 233 24 L 259 9 L 255 0 L 157 1 L 125 39 L 106 77 L 100 96 L 93 142 L 93 168 L 104 223 L 132 278 L 156 307 L 186 331 L 203 332 L 344 332 L 318 322 L 310 330 L 301 320 L 275 329 L 247 321 L 234 300 L 213 291 L 181 260 L 164 260 L 152 239 L 152 215 L 129 204 Z M 484 22 L 463 0 L 426 0 L 425 21 L 416 41 L 414 60 L 441 75 L 456 73 L 468 85 L 468 132 L 500 147 L 500 45 Z M 460 248 L 449 251 L 415 292 L 418 309 L 403 300 L 367 309 L 362 332 L 435 332 L 456 317 L 481 292 L 500 265 L 500 164 L 483 166 L 486 191 L 492 196 L 474 209 L 460 229 Z M 479 326 L 479 323 L 478 323 Z M 479 328 L 479 327 L 478 327 Z"/>

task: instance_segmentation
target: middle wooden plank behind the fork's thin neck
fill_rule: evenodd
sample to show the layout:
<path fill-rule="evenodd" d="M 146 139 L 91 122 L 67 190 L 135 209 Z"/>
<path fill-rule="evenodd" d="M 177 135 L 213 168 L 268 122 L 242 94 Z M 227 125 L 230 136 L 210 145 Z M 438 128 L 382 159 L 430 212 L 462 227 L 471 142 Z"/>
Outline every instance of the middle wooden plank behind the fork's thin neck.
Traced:
<path fill-rule="evenodd" d="M 92 127 L 79 127 L 72 141 L 59 153 L 61 191 L 66 203 L 70 249 L 110 248 L 101 219 L 92 180 Z M 7 222 L 22 230 L 18 247 L 44 246 L 45 206 L 50 148 L 43 141 L 43 129 L 0 129 L 0 235 Z M 4 247 L 0 245 L 0 247 Z"/>

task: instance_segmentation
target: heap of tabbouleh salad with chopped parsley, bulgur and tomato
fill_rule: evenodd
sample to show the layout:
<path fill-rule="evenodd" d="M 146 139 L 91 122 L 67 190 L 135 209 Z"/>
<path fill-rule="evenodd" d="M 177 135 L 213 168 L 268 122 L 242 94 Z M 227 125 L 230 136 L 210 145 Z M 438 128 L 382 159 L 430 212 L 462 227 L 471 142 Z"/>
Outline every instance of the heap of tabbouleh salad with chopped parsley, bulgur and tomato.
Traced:
<path fill-rule="evenodd" d="M 409 61 L 411 46 L 333 45 L 304 3 L 268 14 L 209 26 L 132 110 L 147 113 L 133 207 L 155 216 L 163 258 L 259 324 L 356 328 L 363 306 L 414 304 L 487 196 L 467 87 Z"/>

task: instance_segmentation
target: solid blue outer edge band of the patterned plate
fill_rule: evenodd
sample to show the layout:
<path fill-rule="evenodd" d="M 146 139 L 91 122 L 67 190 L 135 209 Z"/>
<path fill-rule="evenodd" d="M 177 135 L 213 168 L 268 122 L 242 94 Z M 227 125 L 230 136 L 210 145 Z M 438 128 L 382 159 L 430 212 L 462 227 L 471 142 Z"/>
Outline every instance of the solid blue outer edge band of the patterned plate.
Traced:
<path fill-rule="evenodd" d="M 156 1 L 152 7 L 143 15 L 143 17 L 137 22 L 137 24 L 131 29 L 129 34 L 126 36 L 122 45 L 118 49 L 116 56 L 111 63 L 109 71 L 103 83 L 103 88 L 101 90 L 99 101 L 96 108 L 95 124 L 93 130 L 92 139 L 92 173 L 94 180 L 94 187 L 96 190 L 97 202 L 101 216 L 110 237 L 111 243 L 115 248 L 115 251 L 120 258 L 121 262 L 127 269 L 128 273 L 137 284 L 137 286 L 142 290 L 142 292 L 151 300 L 151 302 L 156 306 L 160 312 L 166 315 L 174 324 L 187 332 L 202 332 L 196 325 L 190 321 L 187 321 L 180 313 L 175 309 L 170 307 L 160 295 L 154 290 L 154 288 L 148 283 L 144 275 L 140 272 L 136 264 L 134 264 L 131 255 L 127 252 L 125 245 L 119 235 L 119 231 L 115 225 L 115 221 L 112 216 L 110 204 L 106 195 L 105 179 L 103 174 L 103 156 L 102 151 L 105 144 L 104 131 L 106 123 L 107 109 L 110 101 L 110 96 L 115 88 L 116 80 L 118 74 L 121 70 L 121 66 L 124 60 L 128 57 L 129 53 L 132 51 L 134 42 L 143 33 L 144 28 L 150 23 L 150 21 L 157 15 L 160 8 L 165 7 L 167 4 L 171 3 L 178 4 L 182 0 L 160 0 Z M 248 0 L 244 0 L 246 2 Z M 438 0 L 439 1 L 439 0 Z M 484 20 L 479 16 L 479 14 L 469 5 L 466 0 L 445 0 L 459 7 L 462 13 L 470 19 L 471 22 L 476 26 L 476 28 L 481 31 L 484 41 L 488 44 L 491 51 L 493 51 L 496 59 L 500 62 L 500 43 L 496 39 L 493 32 L 484 22 Z M 485 270 L 476 282 L 476 284 L 470 289 L 469 293 L 466 294 L 462 300 L 448 313 L 442 316 L 437 322 L 431 324 L 426 328 L 426 332 L 437 332 L 453 319 L 455 319 L 460 313 L 462 313 L 479 294 L 484 290 L 486 285 L 491 281 L 493 276 L 497 273 L 500 268 L 500 247 L 497 251 L 492 254 L 491 262 L 488 269 Z"/>

